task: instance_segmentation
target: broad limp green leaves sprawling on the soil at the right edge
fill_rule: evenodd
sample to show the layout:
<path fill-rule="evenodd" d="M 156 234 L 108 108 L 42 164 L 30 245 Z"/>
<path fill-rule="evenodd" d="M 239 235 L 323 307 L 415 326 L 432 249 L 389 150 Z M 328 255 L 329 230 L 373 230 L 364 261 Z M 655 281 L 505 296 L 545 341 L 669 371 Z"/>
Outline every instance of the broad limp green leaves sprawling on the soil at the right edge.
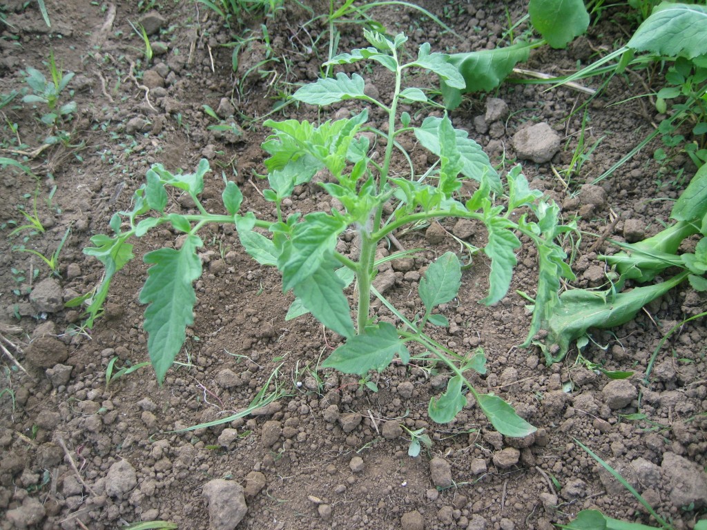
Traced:
<path fill-rule="evenodd" d="M 544 341 L 537 342 L 548 364 L 562 360 L 572 341 L 587 335 L 590 328 L 607 329 L 629 322 L 651 300 L 660 298 L 683 281 L 698 291 L 707 290 L 707 165 L 703 165 L 673 205 L 670 217 L 677 222 L 637 243 L 618 243 L 624 249 L 601 256 L 618 273 L 608 290 L 571 289 L 562 293 L 559 304 L 542 324 Z M 682 242 L 699 235 L 694 252 L 678 254 Z M 626 281 L 648 283 L 669 268 L 679 272 L 660 283 L 622 291 Z"/>

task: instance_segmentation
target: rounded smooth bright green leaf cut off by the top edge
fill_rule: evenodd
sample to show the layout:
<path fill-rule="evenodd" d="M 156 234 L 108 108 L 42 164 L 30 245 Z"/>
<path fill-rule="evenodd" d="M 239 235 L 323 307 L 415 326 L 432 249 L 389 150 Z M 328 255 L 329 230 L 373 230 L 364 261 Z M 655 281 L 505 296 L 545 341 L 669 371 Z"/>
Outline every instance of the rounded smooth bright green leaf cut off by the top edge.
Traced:
<path fill-rule="evenodd" d="M 530 0 L 530 23 L 553 48 L 566 47 L 589 27 L 583 0 Z"/>

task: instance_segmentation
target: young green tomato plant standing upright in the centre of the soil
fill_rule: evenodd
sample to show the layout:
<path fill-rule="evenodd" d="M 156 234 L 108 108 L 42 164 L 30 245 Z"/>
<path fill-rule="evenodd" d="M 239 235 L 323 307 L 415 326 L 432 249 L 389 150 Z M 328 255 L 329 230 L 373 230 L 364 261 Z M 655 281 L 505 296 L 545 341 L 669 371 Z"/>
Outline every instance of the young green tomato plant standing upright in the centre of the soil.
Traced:
<path fill-rule="evenodd" d="M 574 278 L 564 261 L 566 254 L 556 242 L 574 227 L 559 223 L 559 207 L 544 199 L 542 192 L 530 189 L 520 167 L 508 172 L 504 186 L 480 146 L 468 138 L 466 131 L 455 129 L 448 117 L 430 116 L 420 126 L 412 126 L 409 114 L 399 112 L 401 102 L 428 102 L 420 88 L 402 87 L 404 73 L 411 69 L 436 73 L 450 86 L 462 88 L 462 77 L 443 54 L 432 53 L 430 45 L 423 44 L 416 59 L 403 62 L 402 48 L 407 42 L 403 34 L 393 40 L 367 30 L 364 35 L 370 47 L 340 54 L 329 64 L 368 60 L 382 65 L 395 78 L 390 102 L 366 95 L 363 78 L 356 73 L 321 78 L 297 90 L 293 98 L 318 106 L 358 100 L 378 107 L 387 116 L 387 131 L 367 130 L 385 141 L 382 160 L 370 158 L 369 136 L 359 134 L 365 129 L 367 110 L 319 126 L 295 119 L 268 120 L 265 125 L 273 133 L 263 143 L 264 151 L 269 154 L 265 160 L 269 188 L 263 196 L 274 204 L 275 221 L 258 219 L 252 211 L 239 213 L 243 195 L 233 182 L 226 183 L 222 194 L 227 213 L 207 212 L 199 200 L 204 175 L 209 171 L 206 160 L 201 160 L 192 174 L 174 175 L 161 165 L 153 165 L 147 172 L 146 184 L 134 194 L 133 209 L 113 216 L 110 222 L 113 234 L 94 236 L 91 240 L 94 246 L 84 249 L 105 266 L 103 283 L 88 307 L 89 321 L 93 324 L 100 314 L 115 273 L 132 259 L 129 240 L 165 223 L 182 232 L 178 249 L 157 249 L 144 256 L 150 268 L 139 300 L 147 305 L 144 328 L 148 333 L 148 351 L 161 383 L 185 341 L 186 326 L 194 318 L 196 295 L 192 282 L 201 275 L 197 250 L 203 245 L 197 232 L 207 223 L 233 224 L 246 252 L 259 264 L 276 266 L 282 274 L 283 291 L 293 291 L 296 300 L 288 318 L 311 312 L 346 339 L 322 367 L 365 378 L 371 370 L 382 372 L 396 358 L 407 364 L 408 345 L 416 344 L 427 351 L 424 358 L 428 362 L 450 372 L 446 391 L 433 397 L 428 406 L 434 421 L 452 420 L 467 404 L 469 393 L 499 432 L 525 436 L 534 431 L 532 425 L 522 420 L 506 401 L 477 391 L 469 381 L 467 373 L 486 372 L 484 354 L 456 353 L 435 341 L 427 331 L 449 325 L 448 319 L 435 311 L 454 300 L 460 290 L 462 266 L 458 257 L 447 252 L 428 266 L 418 289 L 422 306 L 410 318 L 375 289 L 373 279 L 380 265 L 375 259 L 376 250 L 397 230 L 416 223 L 440 218 L 477 220 L 488 231 L 488 242 L 479 249 L 479 254 L 483 252 L 491 261 L 489 293 L 480 302 L 491 305 L 508 292 L 517 262 L 515 251 L 521 246 L 516 233 L 520 233 L 537 248 L 539 255 L 540 277 L 533 317 L 534 325 L 539 326 L 542 317 L 557 302 L 560 278 Z M 413 170 L 407 176 L 391 173 L 394 150 L 399 145 L 396 140 L 405 134 L 413 135 L 423 148 L 439 158 L 422 175 Z M 341 211 L 314 211 L 304 216 L 295 213 L 285 218 L 281 208 L 284 199 L 292 194 L 294 187 L 310 182 L 322 171 L 328 172 L 330 178 L 321 187 L 341 203 Z M 464 194 L 464 181 L 474 182 L 476 191 Z M 199 213 L 166 213 L 168 189 L 187 194 Z M 384 207 L 393 213 L 384 217 Z M 518 208 L 525 208 L 527 213 L 516 216 Z M 146 216 L 147 213 L 151 216 Z M 123 228 L 124 223 L 127 228 Z M 267 230 L 270 237 L 259 230 Z M 346 230 L 355 230 L 358 237 L 360 252 L 355 259 L 336 249 L 339 235 Z M 401 252 L 387 259 L 407 255 L 409 252 Z M 352 319 L 345 290 L 354 281 L 356 317 Z M 373 296 L 397 316 L 402 322 L 400 326 L 371 318 Z"/>

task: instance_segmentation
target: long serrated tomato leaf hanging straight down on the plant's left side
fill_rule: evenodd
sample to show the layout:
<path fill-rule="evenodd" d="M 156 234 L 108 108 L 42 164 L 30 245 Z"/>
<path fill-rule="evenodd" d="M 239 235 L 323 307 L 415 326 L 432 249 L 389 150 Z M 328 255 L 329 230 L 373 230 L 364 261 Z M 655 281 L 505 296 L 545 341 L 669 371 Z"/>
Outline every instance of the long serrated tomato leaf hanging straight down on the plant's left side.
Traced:
<path fill-rule="evenodd" d="M 148 304 L 143 327 L 159 384 L 182 349 L 187 326 L 194 322 L 197 296 L 192 282 L 201 276 L 201 259 L 197 255 L 201 245 L 199 237 L 189 235 L 179 250 L 163 248 L 144 257 L 145 263 L 152 266 L 139 300 Z"/>

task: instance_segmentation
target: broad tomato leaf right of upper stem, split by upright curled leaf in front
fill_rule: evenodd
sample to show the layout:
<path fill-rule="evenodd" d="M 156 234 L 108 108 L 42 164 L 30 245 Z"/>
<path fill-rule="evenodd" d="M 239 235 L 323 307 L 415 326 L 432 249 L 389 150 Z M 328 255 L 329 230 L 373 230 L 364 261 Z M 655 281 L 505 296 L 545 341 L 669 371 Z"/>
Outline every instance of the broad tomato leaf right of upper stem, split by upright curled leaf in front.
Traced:
<path fill-rule="evenodd" d="M 438 156 L 442 152 L 439 138 L 441 121 L 442 118 L 426 117 L 422 125 L 414 129 L 415 137 L 422 146 Z M 481 146 L 468 137 L 467 131 L 454 129 L 454 132 L 457 151 L 459 151 L 462 162 L 462 175 L 477 182 L 487 180 L 494 192 L 501 193 L 503 191 L 501 177 L 498 177 L 498 173 L 493 169 L 489 155 L 486 155 Z"/>

